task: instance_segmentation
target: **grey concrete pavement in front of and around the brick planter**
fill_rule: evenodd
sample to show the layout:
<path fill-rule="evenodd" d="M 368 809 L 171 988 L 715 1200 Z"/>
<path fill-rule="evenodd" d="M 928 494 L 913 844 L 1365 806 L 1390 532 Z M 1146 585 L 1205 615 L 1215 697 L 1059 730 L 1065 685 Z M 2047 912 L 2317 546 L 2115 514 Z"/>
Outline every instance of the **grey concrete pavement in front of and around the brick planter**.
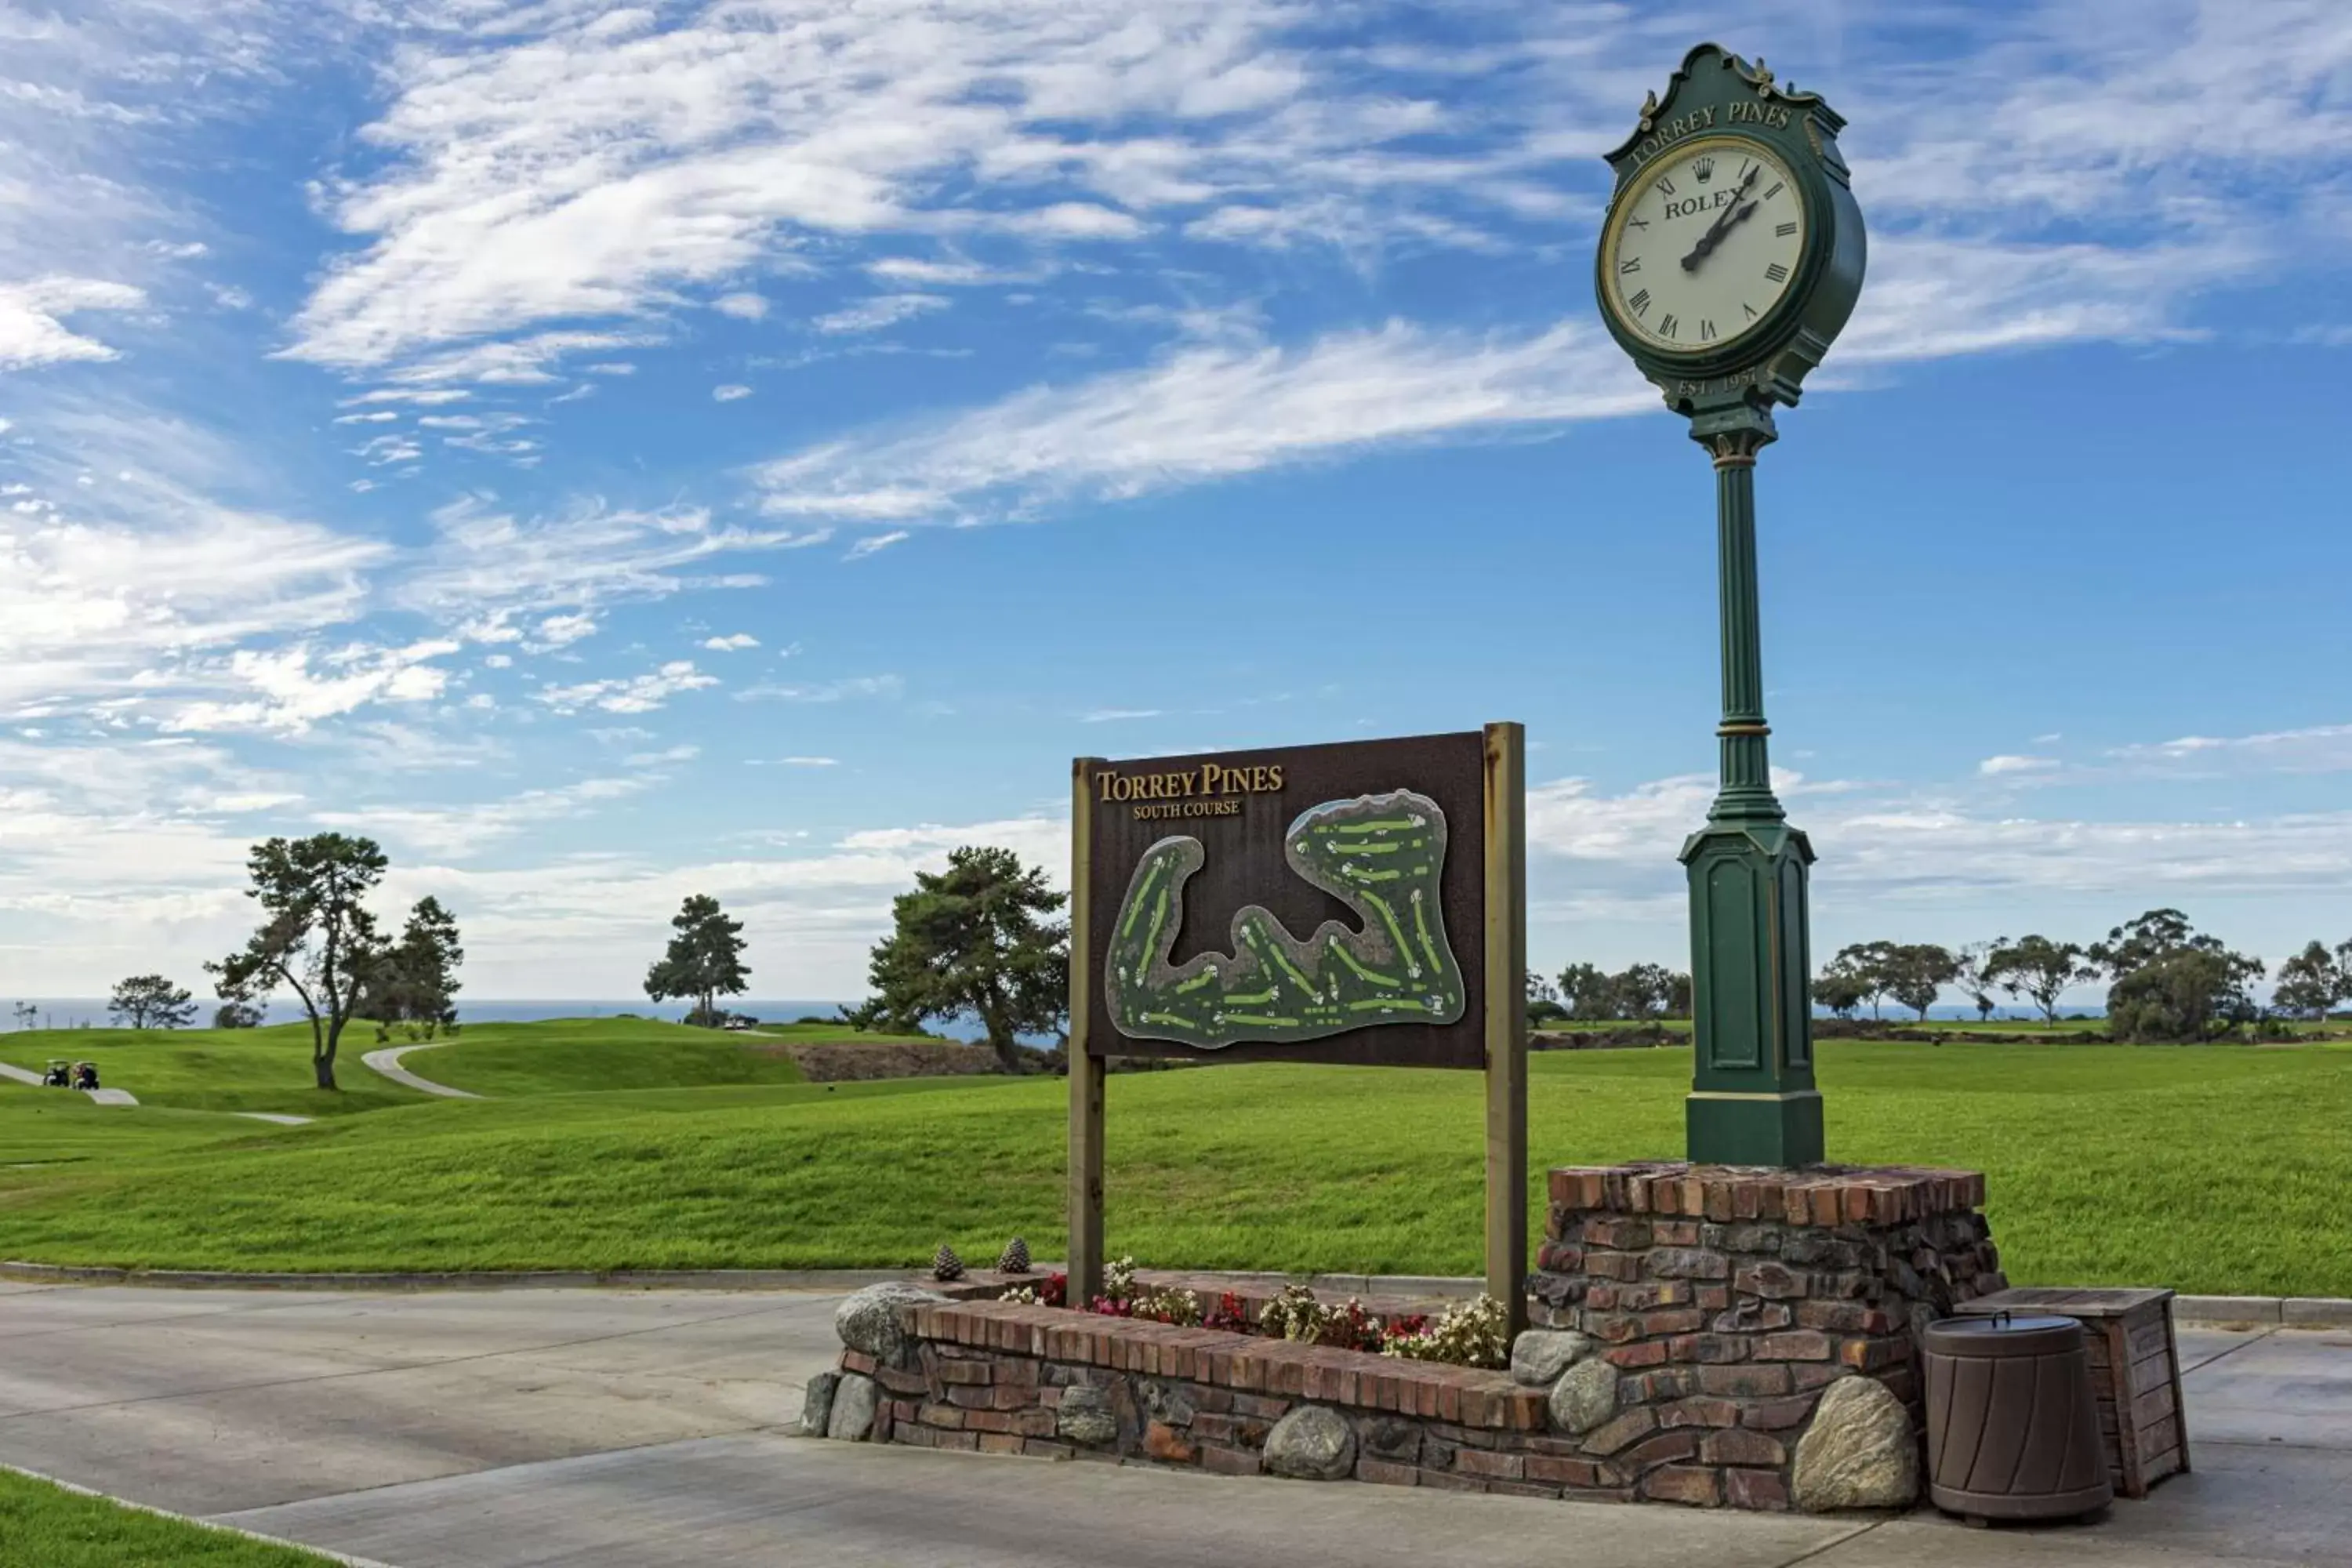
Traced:
<path fill-rule="evenodd" d="M 833 1302 L 0 1284 L 0 1462 L 397 1568 L 2279 1568 L 2352 1542 L 2352 1333 L 2185 1331 L 2194 1474 L 2089 1528 L 1966 1530 L 788 1436 Z"/>

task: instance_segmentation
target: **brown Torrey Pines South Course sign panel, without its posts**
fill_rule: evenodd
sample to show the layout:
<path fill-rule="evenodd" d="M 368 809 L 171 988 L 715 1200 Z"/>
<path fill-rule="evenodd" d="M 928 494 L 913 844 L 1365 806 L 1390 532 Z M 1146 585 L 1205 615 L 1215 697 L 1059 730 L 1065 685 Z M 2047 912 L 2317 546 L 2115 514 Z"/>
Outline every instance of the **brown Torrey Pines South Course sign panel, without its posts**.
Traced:
<path fill-rule="evenodd" d="M 1486 1067 L 1486 736 L 1084 762 L 1087 1053 Z"/>

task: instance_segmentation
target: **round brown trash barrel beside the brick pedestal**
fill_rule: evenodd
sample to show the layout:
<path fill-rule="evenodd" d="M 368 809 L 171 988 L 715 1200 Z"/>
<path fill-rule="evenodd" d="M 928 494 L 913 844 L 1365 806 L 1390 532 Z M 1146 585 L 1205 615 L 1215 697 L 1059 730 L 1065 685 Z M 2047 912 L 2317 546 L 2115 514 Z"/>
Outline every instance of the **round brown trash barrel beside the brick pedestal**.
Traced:
<path fill-rule="evenodd" d="M 1929 1324 L 1929 1497 L 1966 1519 L 2070 1519 L 2114 1500 L 2082 1324 L 1955 1316 Z"/>

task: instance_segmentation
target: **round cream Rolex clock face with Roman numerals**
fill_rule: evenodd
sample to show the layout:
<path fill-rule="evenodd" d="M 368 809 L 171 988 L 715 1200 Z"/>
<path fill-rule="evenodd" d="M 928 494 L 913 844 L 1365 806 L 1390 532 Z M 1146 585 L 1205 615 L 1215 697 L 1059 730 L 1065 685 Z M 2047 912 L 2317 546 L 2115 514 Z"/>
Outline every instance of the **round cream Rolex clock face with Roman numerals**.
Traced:
<path fill-rule="evenodd" d="M 1668 353 L 1719 353 L 1797 284 L 1804 197 L 1788 165 L 1745 136 L 1653 158 L 1602 230 L 1609 315 Z"/>

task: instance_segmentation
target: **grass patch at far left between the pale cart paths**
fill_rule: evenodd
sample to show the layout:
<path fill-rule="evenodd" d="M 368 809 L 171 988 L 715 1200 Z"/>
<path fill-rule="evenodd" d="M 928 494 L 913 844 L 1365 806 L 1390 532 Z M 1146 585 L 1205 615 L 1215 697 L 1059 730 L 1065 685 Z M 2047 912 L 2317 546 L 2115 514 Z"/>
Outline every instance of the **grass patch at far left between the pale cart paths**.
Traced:
<path fill-rule="evenodd" d="M 268 1030 L 19 1030 L 0 1034 L 0 1063 L 40 1072 L 49 1058 L 96 1063 L 99 1081 L 127 1088 L 141 1105 L 176 1110 L 268 1110 L 296 1117 L 346 1117 L 423 1100 L 414 1088 L 360 1065 L 376 1046 L 374 1025 L 350 1025 L 334 1063 L 339 1088 L 310 1074 L 310 1025 Z M 82 1100 L 49 1088 L 59 1100 Z"/>

